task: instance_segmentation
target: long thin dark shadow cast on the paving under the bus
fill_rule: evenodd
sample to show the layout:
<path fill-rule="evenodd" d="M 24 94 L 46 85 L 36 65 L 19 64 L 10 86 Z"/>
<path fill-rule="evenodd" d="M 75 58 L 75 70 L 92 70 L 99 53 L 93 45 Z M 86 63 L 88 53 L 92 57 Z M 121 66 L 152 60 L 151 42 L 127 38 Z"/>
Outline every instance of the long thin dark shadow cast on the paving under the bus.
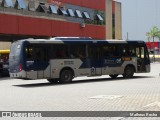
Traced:
<path fill-rule="evenodd" d="M 120 80 L 135 80 L 135 79 L 144 79 L 144 78 L 154 78 L 152 76 L 134 76 L 130 79 L 124 79 L 123 77 L 118 77 L 117 79 L 112 78 L 101 78 L 101 79 L 87 79 L 87 80 L 76 80 L 71 83 L 62 84 L 62 83 L 54 83 L 51 84 L 49 82 L 45 83 L 32 83 L 32 84 L 21 84 L 21 85 L 13 85 L 16 87 L 25 87 L 25 88 L 31 88 L 31 87 L 46 87 L 46 86 L 64 86 L 64 85 L 74 85 L 74 84 L 84 84 L 84 83 L 95 83 L 95 82 L 110 82 L 110 81 L 120 81 Z"/>

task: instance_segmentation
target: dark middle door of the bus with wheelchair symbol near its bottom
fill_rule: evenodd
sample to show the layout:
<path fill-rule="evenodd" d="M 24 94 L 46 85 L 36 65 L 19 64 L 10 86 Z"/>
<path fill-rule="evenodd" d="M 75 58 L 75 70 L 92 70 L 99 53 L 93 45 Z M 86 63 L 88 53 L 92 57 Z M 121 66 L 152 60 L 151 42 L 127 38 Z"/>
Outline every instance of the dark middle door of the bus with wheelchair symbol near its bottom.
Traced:
<path fill-rule="evenodd" d="M 102 75 L 102 47 L 98 45 L 89 46 L 90 72 L 91 76 Z"/>

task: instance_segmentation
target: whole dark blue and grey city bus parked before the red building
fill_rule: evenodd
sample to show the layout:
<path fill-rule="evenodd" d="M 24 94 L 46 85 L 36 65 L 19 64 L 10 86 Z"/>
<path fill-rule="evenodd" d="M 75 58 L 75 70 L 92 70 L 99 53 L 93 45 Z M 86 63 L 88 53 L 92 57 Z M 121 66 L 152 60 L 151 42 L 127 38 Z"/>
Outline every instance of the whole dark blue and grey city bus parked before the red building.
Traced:
<path fill-rule="evenodd" d="M 12 43 L 9 70 L 12 78 L 69 83 L 78 76 L 109 75 L 115 79 L 148 73 L 150 59 L 143 41 L 29 38 Z"/>

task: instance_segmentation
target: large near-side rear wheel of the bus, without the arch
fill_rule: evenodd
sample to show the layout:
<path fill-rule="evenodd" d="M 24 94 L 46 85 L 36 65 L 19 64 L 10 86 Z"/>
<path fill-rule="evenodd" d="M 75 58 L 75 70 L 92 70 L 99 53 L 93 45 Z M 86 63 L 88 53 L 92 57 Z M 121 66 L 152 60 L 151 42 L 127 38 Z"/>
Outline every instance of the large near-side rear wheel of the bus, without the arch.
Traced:
<path fill-rule="evenodd" d="M 70 83 L 73 79 L 73 72 L 69 69 L 62 70 L 60 74 L 60 82 L 61 83 Z"/>

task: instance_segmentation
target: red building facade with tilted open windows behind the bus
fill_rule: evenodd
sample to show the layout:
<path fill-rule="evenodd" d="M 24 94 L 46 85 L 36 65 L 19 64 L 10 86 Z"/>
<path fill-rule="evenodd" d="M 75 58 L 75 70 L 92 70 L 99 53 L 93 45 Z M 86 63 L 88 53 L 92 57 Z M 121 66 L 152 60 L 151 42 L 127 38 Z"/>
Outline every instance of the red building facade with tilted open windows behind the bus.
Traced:
<path fill-rule="evenodd" d="M 55 36 L 121 39 L 121 3 L 113 0 L 0 0 L 0 26 L 3 42 Z M 8 49 L 9 45 L 5 46 L 0 49 Z"/>

